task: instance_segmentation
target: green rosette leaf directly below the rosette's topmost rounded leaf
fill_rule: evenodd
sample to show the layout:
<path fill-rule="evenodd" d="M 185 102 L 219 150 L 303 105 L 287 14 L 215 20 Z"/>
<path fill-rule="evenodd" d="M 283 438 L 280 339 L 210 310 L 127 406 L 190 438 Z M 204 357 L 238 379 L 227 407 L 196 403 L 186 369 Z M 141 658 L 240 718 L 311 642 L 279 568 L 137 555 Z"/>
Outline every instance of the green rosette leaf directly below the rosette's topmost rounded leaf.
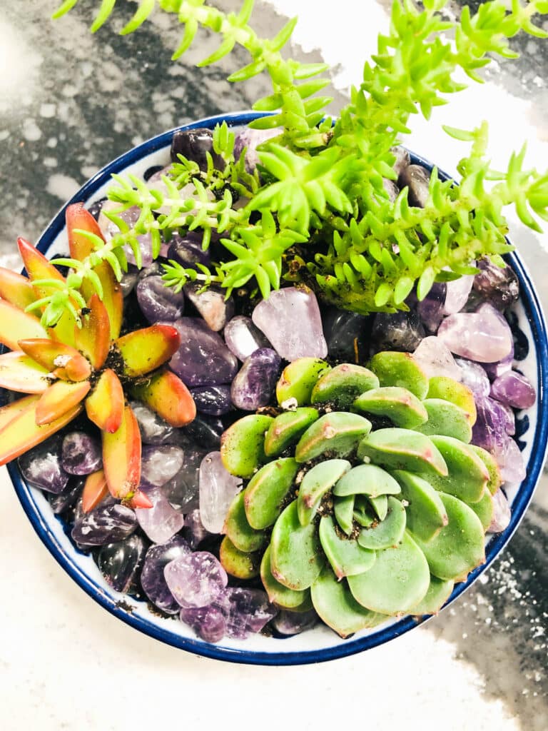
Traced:
<path fill-rule="evenodd" d="M 416 395 L 397 386 L 381 386 L 366 391 L 352 406 L 359 412 L 387 417 L 395 426 L 404 429 L 416 429 L 428 419 L 425 406 Z"/>

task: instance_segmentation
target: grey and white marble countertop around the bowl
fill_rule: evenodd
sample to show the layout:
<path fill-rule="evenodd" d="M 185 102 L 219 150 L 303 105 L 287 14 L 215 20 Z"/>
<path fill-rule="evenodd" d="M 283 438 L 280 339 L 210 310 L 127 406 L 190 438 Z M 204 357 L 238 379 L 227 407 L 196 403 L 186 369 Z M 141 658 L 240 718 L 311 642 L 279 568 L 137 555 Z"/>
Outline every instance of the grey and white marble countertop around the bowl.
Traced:
<path fill-rule="evenodd" d="M 467 3 L 476 5 L 475 2 Z M 133 37 L 115 34 L 132 4 L 98 37 L 95 1 L 50 23 L 55 0 L 5 4 L 0 18 L 0 265 L 18 267 L 15 239 L 36 240 L 61 204 L 96 170 L 164 129 L 246 109 L 266 84 L 228 86 L 243 56 L 216 67 L 178 64 L 180 29 L 155 15 Z M 237 0 L 218 2 L 224 9 Z M 258 0 L 254 26 L 268 36 L 300 15 L 293 53 L 334 68 L 335 110 L 358 81 L 387 1 L 338 0 L 329 17 L 310 0 Z M 458 12 L 458 4 L 452 6 Z M 548 27 L 548 23 L 546 24 Z M 432 123 L 417 120 L 411 148 L 454 170 L 460 149 L 441 124 L 490 121 L 492 159 L 527 139 L 548 168 L 548 42 L 518 43 L 522 58 L 495 64 L 487 83 L 457 95 Z M 242 64 L 240 64 L 242 65 Z M 512 221 L 544 307 L 548 237 Z M 245 667 L 161 645 L 96 605 L 64 574 L 31 529 L 0 470 L 0 727 L 5 731 L 161 729 L 280 723 L 305 729 L 367 719 L 378 731 L 544 731 L 548 727 L 548 478 L 503 556 L 435 621 L 365 654 L 308 667 Z M 307 697 L 308 696 L 308 697 Z M 283 708 L 272 713 L 273 708 Z M 364 721 L 365 722 L 365 721 Z"/>

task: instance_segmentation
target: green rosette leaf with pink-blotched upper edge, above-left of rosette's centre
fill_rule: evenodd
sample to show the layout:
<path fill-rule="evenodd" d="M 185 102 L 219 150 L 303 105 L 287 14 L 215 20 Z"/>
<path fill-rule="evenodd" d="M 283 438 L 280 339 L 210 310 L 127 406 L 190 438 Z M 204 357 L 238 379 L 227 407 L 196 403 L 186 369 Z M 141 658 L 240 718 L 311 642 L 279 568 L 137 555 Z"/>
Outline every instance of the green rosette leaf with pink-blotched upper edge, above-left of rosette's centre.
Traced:
<path fill-rule="evenodd" d="M 308 462 L 324 452 L 346 457 L 371 431 L 371 423 L 359 414 L 331 412 L 314 422 L 301 436 L 295 447 L 297 462 Z"/>

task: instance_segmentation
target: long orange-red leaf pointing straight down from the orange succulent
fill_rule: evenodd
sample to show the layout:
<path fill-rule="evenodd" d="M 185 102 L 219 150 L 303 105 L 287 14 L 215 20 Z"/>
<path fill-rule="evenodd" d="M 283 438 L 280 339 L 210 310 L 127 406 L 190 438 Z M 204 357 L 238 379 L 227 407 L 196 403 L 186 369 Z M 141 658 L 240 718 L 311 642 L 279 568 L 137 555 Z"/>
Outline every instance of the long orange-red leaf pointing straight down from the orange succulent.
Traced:
<path fill-rule="evenodd" d="M 131 499 L 141 479 L 141 435 L 129 406 L 123 410 L 118 431 L 102 432 L 103 469 L 110 494 L 117 499 Z"/>

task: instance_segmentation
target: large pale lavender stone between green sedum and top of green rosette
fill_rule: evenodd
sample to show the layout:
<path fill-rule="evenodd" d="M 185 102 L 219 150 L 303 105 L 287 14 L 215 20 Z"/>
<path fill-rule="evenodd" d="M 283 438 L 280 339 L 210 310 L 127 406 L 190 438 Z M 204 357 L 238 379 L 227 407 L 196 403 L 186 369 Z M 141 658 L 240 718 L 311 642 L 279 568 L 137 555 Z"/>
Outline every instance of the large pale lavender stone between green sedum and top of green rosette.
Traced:
<path fill-rule="evenodd" d="M 310 290 L 286 287 L 270 292 L 256 306 L 252 319 L 285 360 L 327 355 L 318 300 Z"/>

